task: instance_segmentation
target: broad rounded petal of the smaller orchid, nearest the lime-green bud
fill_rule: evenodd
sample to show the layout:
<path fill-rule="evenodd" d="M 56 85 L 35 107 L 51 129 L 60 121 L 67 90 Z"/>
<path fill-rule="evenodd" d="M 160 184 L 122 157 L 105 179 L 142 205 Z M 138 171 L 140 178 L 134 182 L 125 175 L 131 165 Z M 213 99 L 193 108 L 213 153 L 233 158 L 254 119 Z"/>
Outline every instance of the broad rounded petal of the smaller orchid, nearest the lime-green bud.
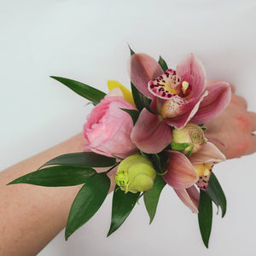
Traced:
<path fill-rule="evenodd" d="M 174 189 L 187 189 L 198 181 L 198 175 L 189 159 L 182 153 L 169 150 L 169 161 L 166 165 L 166 174 L 163 176 L 166 183 Z"/>

